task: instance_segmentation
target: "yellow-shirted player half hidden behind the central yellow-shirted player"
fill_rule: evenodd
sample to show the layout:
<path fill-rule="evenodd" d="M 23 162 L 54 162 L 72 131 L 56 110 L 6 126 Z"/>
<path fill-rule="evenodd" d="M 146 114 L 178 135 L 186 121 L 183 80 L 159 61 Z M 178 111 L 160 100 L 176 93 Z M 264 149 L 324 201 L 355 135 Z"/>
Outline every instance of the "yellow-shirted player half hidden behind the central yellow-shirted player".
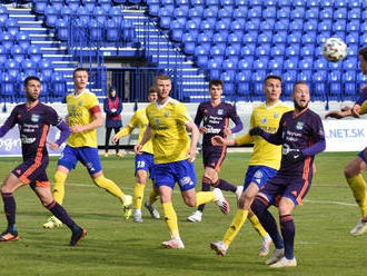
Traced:
<path fill-rule="evenodd" d="M 158 97 L 157 95 L 158 95 L 158 88 L 156 86 L 150 87 L 148 91 L 149 102 L 155 102 Z M 146 109 L 145 108 L 139 109 L 131 117 L 129 125 L 122 128 L 119 132 L 117 132 L 113 136 L 112 142 L 116 144 L 120 138 L 131 134 L 135 128 L 139 127 L 139 138 L 138 138 L 138 144 L 139 144 L 147 129 L 147 126 L 148 126 L 148 118 L 146 115 Z M 153 165 L 153 155 L 152 155 L 153 151 L 152 151 L 151 140 L 148 140 L 146 145 L 143 145 L 140 152 L 141 152 L 140 155 L 136 155 L 135 157 L 136 185 L 133 189 L 135 210 L 132 218 L 133 221 L 136 223 L 143 221 L 141 216 L 141 205 L 143 198 L 143 190 L 147 184 L 148 171 L 150 178 L 153 179 L 151 171 Z M 153 185 L 153 189 L 151 190 L 151 194 L 149 196 L 149 201 L 145 203 L 146 208 L 149 210 L 150 215 L 153 218 L 160 218 L 159 211 L 152 206 L 152 204 L 157 200 L 157 197 L 159 197 L 159 193 Z"/>

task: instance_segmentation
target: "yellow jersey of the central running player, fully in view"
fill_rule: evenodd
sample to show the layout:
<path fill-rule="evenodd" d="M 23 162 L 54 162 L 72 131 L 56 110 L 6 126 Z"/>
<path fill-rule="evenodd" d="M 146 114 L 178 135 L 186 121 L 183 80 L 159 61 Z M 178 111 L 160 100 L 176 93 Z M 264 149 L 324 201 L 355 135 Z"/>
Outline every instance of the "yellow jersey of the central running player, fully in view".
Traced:
<path fill-rule="evenodd" d="M 186 124 L 190 117 L 184 103 L 169 98 L 165 105 L 146 108 L 155 155 L 155 164 L 181 161 L 188 158 L 190 138 Z"/>

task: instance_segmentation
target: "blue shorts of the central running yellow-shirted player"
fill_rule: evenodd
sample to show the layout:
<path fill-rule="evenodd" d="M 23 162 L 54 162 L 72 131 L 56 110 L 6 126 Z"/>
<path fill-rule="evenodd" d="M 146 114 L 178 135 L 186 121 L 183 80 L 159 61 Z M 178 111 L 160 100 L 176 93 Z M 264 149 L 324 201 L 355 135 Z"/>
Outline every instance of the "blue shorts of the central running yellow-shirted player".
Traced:
<path fill-rule="evenodd" d="M 188 159 L 176 162 L 155 164 L 156 186 L 168 186 L 173 189 L 178 183 L 180 190 L 189 190 L 196 187 L 196 174 L 194 162 Z"/>

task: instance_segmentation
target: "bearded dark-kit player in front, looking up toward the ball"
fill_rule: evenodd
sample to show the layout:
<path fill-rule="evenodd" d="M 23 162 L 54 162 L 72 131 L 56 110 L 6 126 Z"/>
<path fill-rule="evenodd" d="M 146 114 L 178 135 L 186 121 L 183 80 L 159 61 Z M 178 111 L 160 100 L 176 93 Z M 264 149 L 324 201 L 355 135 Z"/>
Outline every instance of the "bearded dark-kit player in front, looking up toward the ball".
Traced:
<path fill-rule="evenodd" d="M 315 155 L 325 150 L 325 135 L 320 117 L 308 108 L 309 88 L 305 81 L 297 81 L 291 93 L 295 110 L 282 115 L 276 134 L 252 128 L 250 135 L 258 135 L 274 145 L 282 145 L 282 157 L 278 174 L 270 178 L 256 196 L 251 209 L 270 235 L 274 255 L 266 260 L 270 267 L 297 266 L 294 256 L 295 223 L 292 209 L 302 204 L 313 179 Z M 268 211 L 276 205 L 279 224 Z"/>

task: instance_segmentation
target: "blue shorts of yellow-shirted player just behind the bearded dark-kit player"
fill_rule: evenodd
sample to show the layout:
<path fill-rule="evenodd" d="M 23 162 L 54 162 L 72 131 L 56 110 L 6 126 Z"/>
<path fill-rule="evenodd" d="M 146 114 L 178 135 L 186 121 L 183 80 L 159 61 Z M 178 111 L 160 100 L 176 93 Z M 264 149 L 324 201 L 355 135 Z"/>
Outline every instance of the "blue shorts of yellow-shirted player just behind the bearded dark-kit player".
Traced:
<path fill-rule="evenodd" d="M 248 166 L 244 190 L 250 185 L 250 183 L 255 183 L 259 189 L 272 177 L 277 175 L 278 170 L 267 167 L 267 166 Z"/>

